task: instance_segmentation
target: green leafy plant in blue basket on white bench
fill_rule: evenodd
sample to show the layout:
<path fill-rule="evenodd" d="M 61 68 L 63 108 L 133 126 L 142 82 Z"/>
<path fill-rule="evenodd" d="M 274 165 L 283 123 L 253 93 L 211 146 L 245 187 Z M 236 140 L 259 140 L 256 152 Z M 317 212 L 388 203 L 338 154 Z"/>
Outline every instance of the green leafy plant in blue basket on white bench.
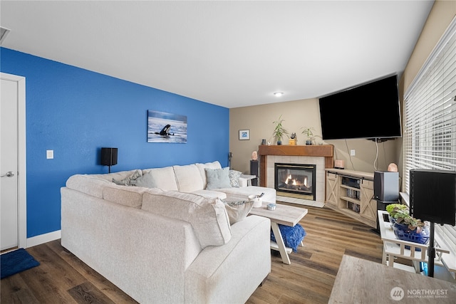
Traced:
<path fill-rule="evenodd" d="M 429 228 L 423 221 L 410 215 L 408 206 L 390 204 L 386 206 L 386 211 L 393 218 L 393 231 L 398 239 L 422 244 L 429 241 Z"/>

